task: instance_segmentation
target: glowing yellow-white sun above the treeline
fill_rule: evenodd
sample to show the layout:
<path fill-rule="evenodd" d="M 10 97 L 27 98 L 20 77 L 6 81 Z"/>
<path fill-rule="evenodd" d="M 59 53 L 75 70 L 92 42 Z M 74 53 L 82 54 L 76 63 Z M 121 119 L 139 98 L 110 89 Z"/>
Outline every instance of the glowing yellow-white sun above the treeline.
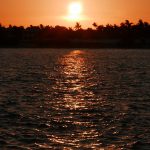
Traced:
<path fill-rule="evenodd" d="M 69 20 L 77 21 L 81 19 L 82 4 L 80 2 L 72 2 L 69 4 Z"/>

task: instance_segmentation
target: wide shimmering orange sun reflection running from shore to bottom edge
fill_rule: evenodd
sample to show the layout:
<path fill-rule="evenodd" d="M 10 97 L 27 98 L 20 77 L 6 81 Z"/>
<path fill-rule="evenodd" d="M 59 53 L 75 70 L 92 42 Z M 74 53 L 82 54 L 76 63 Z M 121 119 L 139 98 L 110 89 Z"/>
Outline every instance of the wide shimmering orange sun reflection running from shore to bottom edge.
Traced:
<path fill-rule="evenodd" d="M 55 78 L 53 99 L 49 101 L 54 130 L 47 135 L 50 143 L 59 145 L 60 149 L 102 149 L 103 136 L 111 132 L 114 127 L 111 123 L 120 117 L 107 100 L 109 91 L 100 90 L 107 75 L 103 78 L 97 72 L 92 52 L 86 50 L 66 51 L 57 60 L 59 77 Z M 117 117 L 111 118 L 114 115 L 111 111 Z"/>

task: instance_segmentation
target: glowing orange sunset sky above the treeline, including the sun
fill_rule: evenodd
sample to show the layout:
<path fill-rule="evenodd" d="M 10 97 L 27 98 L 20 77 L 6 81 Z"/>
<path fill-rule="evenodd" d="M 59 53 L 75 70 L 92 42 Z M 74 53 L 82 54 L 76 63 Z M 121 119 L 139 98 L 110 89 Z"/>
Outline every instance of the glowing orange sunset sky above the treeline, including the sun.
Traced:
<path fill-rule="evenodd" d="M 0 23 L 74 26 L 79 21 L 87 27 L 93 22 L 119 24 L 125 19 L 150 22 L 149 7 L 150 0 L 0 0 Z"/>

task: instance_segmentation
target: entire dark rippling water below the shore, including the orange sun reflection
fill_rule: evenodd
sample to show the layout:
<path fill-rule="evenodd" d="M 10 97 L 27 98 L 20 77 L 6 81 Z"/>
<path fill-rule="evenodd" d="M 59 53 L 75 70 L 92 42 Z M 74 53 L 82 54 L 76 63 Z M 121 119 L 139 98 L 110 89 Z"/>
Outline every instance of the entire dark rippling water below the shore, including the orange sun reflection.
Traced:
<path fill-rule="evenodd" d="M 150 50 L 0 50 L 0 149 L 150 150 Z"/>

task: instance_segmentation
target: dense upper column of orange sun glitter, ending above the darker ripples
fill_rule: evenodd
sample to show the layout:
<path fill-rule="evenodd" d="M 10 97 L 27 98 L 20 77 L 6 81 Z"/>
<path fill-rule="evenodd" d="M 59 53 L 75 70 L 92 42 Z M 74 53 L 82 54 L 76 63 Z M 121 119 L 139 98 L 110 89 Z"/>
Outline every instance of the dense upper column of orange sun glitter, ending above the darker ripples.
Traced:
<path fill-rule="evenodd" d="M 66 78 L 65 84 L 68 87 L 68 92 L 64 94 L 63 100 L 68 109 L 86 109 L 88 102 L 85 101 L 85 97 L 93 96 L 91 91 L 85 90 L 88 84 L 86 79 L 90 72 L 83 55 L 83 51 L 74 50 L 61 60 L 61 64 L 64 66 L 62 74 Z"/>

